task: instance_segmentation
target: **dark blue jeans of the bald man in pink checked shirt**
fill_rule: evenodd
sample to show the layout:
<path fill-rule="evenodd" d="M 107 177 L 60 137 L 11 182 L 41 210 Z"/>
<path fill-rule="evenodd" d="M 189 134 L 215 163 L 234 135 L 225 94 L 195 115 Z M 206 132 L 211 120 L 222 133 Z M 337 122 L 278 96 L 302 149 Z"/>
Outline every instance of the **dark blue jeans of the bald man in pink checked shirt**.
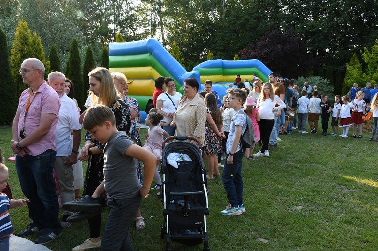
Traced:
<path fill-rule="evenodd" d="M 29 218 L 47 229 L 60 229 L 59 204 L 53 178 L 56 151 L 47 150 L 40 155 L 16 155 L 16 169 L 21 190 L 30 200 Z"/>

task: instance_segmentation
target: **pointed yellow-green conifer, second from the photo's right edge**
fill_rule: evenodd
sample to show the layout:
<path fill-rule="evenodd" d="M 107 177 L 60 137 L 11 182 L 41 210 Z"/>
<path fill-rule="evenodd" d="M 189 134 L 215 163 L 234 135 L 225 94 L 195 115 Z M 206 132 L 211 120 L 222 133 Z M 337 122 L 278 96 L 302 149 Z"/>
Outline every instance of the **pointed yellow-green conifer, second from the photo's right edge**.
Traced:
<path fill-rule="evenodd" d="M 363 78 L 362 65 L 358 60 L 356 53 L 352 55 L 349 63 L 346 63 L 346 73 L 342 85 L 342 94 L 346 94 L 353 84 L 363 85 L 366 83 Z"/>

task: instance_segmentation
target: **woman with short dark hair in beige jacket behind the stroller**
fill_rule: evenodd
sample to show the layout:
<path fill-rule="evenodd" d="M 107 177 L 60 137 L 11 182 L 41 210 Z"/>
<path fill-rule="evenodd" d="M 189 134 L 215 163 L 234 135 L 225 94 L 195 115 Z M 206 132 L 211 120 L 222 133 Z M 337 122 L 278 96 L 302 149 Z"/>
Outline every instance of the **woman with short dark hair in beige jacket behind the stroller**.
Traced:
<path fill-rule="evenodd" d="M 197 93 L 198 88 L 199 84 L 195 78 L 184 80 L 184 97 L 173 116 L 172 126 L 176 126 L 175 135 L 196 137 L 204 145 L 206 107 Z"/>

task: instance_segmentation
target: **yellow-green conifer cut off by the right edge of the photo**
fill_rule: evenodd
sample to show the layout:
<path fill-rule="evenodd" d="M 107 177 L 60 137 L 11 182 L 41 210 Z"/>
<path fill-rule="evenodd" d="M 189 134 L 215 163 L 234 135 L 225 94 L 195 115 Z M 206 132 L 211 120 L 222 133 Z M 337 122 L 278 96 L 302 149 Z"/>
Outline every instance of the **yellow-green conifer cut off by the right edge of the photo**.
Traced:
<path fill-rule="evenodd" d="M 365 47 L 364 51 L 360 51 L 360 53 L 366 63 L 364 78 L 371 82 L 372 85 L 375 85 L 378 83 L 378 39 L 376 39 L 371 49 L 372 52 Z"/>

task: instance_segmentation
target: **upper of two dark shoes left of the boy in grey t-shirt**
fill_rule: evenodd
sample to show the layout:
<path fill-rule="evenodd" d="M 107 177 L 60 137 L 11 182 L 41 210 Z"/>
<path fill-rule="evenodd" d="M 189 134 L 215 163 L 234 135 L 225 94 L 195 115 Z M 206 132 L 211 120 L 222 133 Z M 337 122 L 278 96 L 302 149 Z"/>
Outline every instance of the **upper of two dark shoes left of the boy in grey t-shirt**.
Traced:
<path fill-rule="evenodd" d="M 84 195 L 76 201 L 66 202 L 62 205 L 62 208 L 70 212 L 84 211 L 97 214 L 101 213 L 102 210 L 100 200 L 89 195 Z"/>

